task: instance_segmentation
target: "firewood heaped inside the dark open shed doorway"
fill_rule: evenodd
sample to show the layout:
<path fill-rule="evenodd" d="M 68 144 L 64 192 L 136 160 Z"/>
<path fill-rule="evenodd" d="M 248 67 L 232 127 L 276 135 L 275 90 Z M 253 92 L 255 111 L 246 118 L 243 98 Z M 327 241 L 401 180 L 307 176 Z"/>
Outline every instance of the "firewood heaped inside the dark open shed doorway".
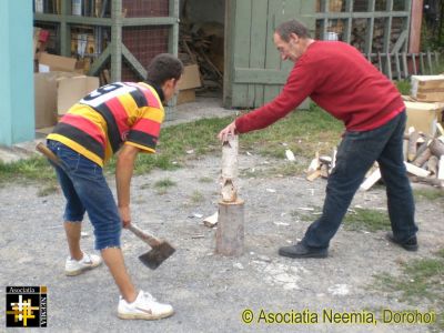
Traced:
<path fill-rule="evenodd" d="M 223 87 L 223 26 L 219 23 L 181 23 L 179 58 L 184 64 L 198 64 L 202 87 Z"/>

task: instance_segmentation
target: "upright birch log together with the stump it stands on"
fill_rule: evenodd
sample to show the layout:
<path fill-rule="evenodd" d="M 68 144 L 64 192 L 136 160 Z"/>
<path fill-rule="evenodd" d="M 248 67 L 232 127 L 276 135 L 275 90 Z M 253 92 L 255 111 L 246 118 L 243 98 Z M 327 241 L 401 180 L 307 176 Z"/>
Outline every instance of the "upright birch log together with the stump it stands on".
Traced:
<path fill-rule="evenodd" d="M 244 240 L 244 201 L 238 196 L 238 135 L 222 145 L 222 200 L 219 202 L 215 253 L 241 255 Z"/>

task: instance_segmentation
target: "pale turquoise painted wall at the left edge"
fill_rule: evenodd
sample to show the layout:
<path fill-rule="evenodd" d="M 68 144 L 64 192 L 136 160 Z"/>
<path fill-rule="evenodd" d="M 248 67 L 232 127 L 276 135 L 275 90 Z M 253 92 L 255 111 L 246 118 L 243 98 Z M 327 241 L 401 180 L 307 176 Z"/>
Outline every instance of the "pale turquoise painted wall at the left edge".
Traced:
<path fill-rule="evenodd" d="M 34 139 L 32 1 L 0 1 L 0 144 Z"/>

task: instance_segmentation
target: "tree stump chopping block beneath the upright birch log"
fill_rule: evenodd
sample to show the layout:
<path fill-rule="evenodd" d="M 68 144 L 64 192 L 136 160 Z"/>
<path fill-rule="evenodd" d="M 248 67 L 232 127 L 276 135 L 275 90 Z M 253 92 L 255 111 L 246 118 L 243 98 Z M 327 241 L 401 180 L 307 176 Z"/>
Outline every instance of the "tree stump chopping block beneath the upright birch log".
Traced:
<path fill-rule="evenodd" d="M 244 246 L 244 201 L 219 201 L 219 221 L 215 232 L 215 252 L 222 255 L 242 255 Z"/>

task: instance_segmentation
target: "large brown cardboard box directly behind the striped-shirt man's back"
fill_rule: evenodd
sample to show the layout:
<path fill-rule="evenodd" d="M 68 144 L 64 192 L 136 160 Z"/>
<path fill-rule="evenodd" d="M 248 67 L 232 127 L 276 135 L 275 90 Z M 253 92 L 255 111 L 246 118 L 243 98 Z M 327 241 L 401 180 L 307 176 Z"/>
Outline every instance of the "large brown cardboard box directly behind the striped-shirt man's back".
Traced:
<path fill-rule="evenodd" d="M 57 71 L 34 73 L 36 129 L 53 127 L 59 110 L 67 112 L 69 107 L 97 88 L 99 78 Z"/>

